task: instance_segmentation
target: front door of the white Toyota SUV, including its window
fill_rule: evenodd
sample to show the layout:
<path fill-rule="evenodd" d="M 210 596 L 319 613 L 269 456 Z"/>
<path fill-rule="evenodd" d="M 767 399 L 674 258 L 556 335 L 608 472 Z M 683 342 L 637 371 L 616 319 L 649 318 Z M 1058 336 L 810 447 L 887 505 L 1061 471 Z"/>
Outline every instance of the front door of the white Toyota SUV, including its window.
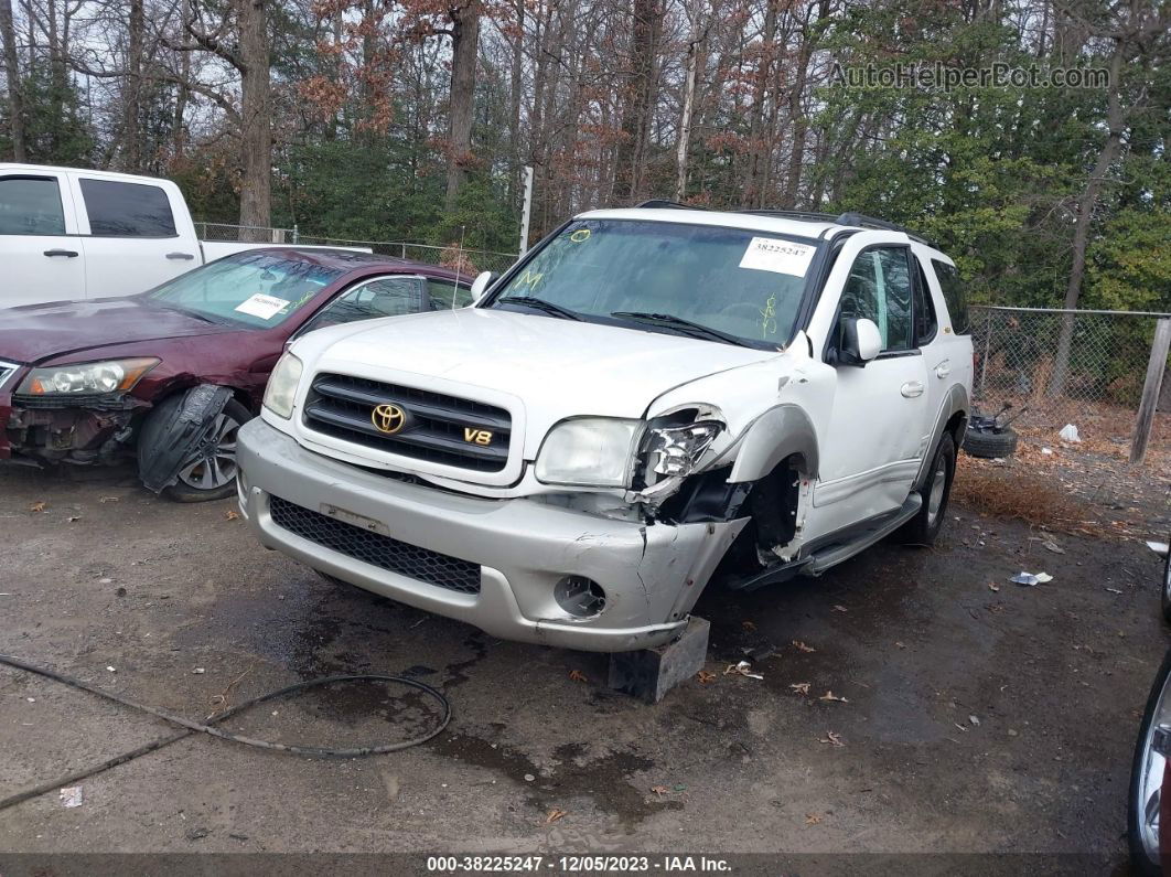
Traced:
<path fill-rule="evenodd" d="M 814 489 L 814 507 L 834 509 L 820 516 L 835 529 L 903 505 L 927 430 L 926 366 L 916 345 L 910 248 L 850 249 L 857 247 L 847 246 L 840 256 L 851 261 L 826 348 L 836 381 Z M 882 352 L 864 366 L 835 362 L 841 324 L 849 317 L 872 320 L 882 336 Z"/>

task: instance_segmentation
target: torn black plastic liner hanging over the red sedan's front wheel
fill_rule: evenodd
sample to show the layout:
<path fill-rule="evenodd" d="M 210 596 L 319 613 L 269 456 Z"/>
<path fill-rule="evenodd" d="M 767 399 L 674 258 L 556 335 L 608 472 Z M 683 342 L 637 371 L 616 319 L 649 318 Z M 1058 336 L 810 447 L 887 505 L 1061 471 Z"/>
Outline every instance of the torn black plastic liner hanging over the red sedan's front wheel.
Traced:
<path fill-rule="evenodd" d="M 179 480 L 184 464 L 212 440 L 232 395 L 230 386 L 199 384 L 155 406 L 138 433 L 138 475 L 146 489 L 159 493 Z"/>

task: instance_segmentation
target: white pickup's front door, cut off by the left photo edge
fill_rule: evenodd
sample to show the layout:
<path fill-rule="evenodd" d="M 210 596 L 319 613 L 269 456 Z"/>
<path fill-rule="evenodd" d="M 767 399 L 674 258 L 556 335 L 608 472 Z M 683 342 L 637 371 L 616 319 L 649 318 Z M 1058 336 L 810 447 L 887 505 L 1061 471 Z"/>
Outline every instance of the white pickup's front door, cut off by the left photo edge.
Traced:
<path fill-rule="evenodd" d="M 85 297 L 67 174 L 0 167 L 0 308 Z"/>

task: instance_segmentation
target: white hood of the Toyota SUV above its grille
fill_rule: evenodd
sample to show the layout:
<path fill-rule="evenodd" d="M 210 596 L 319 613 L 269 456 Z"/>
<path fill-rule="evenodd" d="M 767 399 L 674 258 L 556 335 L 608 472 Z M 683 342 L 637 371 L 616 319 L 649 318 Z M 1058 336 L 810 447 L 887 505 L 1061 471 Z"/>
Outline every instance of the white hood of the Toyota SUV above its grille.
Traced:
<path fill-rule="evenodd" d="M 336 371 L 502 404 L 513 412 L 514 427 L 523 422 L 526 459 L 567 417 L 638 418 L 673 388 L 780 355 L 487 308 L 324 329 L 307 335 L 294 352 L 307 372 Z"/>

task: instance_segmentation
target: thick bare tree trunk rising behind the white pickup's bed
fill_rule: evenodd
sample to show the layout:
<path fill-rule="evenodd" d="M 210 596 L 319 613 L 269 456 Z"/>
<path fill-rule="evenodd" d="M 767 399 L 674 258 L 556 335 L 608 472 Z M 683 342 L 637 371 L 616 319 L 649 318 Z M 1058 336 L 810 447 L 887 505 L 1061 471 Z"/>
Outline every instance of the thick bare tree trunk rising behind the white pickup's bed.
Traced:
<path fill-rule="evenodd" d="M 235 0 L 240 27 L 240 225 L 272 224 L 273 131 L 269 119 L 265 0 Z M 261 239 L 261 234 L 247 235 Z"/>

